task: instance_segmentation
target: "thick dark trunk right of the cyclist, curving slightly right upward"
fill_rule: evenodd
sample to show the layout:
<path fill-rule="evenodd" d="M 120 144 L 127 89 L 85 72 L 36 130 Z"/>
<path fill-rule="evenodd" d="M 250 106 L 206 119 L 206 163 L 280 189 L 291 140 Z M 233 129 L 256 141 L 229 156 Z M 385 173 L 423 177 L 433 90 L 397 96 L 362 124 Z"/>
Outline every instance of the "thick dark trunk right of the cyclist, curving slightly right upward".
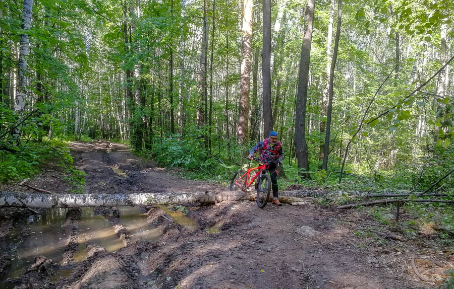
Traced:
<path fill-rule="evenodd" d="M 304 36 L 301 45 L 300 69 L 298 73 L 298 96 L 295 118 L 295 152 L 298 160 L 299 175 L 310 179 L 309 153 L 306 143 L 306 103 L 309 84 L 309 60 L 311 56 L 312 27 L 314 24 L 315 0 L 308 0 L 304 16 Z"/>

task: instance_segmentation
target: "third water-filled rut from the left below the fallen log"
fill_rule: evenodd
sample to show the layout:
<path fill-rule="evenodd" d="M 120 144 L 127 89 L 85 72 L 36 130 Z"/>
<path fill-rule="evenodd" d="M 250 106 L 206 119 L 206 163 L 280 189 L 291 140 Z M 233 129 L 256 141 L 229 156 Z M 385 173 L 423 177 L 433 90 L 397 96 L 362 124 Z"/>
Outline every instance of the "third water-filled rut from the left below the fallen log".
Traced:
<path fill-rule="evenodd" d="M 120 222 L 130 233 L 131 242 L 139 239 L 156 241 L 162 234 L 154 226 L 147 223 L 147 214 L 138 206 L 119 207 Z"/>

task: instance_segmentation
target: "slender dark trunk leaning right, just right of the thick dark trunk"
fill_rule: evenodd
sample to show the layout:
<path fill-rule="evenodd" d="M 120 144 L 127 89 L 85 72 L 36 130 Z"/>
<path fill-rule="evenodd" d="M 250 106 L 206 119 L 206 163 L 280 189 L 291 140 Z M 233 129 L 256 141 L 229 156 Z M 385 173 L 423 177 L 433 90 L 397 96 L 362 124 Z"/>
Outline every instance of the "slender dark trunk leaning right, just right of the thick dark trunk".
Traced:
<path fill-rule="evenodd" d="M 328 111 L 326 114 L 326 132 L 325 132 L 325 145 L 323 152 L 322 170 L 328 169 L 328 154 L 329 154 L 329 137 L 331 133 L 331 117 L 332 117 L 332 97 L 334 94 L 334 68 L 337 60 L 337 50 L 339 47 L 339 37 L 341 36 L 341 23 L 342 23 L 342 0 L 337 3 L 337 28 L 334 40 L 334 51 L 332 54 L 331 70 L 329 73 L 329 98 L 328 98 Z"/>

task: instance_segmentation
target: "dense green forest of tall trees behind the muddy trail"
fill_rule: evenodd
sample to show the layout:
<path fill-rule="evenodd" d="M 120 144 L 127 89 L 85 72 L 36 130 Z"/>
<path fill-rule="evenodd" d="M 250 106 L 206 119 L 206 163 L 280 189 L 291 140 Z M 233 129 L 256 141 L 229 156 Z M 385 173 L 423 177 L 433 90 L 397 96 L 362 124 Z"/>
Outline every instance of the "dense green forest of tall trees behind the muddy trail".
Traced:
<path fill-rule="evenodd" d="M 2 0 L 0 180 L 101 138 L 228 179 L 275 130 L 286 182 L 452 192 L 453 7 Z"/>

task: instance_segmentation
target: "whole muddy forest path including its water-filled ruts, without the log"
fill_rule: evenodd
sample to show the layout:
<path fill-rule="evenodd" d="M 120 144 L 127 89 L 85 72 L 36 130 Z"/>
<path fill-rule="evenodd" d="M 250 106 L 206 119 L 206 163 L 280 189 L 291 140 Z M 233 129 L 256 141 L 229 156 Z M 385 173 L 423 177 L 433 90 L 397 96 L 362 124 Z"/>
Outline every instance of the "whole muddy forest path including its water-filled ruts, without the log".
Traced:
<path fill-rule="evenodd" d="M 122 144 L 74 142 L 71 150 L 75 164 L 87 174 L 85 193 L 225 190 L 183 180 L 138 159 Z M 57 169 L 31 184 L 69 190 Z M 359 289 L 441 284 L 420 280 L 411 259 L 416 256 L 415 266 L 426 277 L 444 276 L 454 264 L 452 250 L 430 237 L 399 242 L 367 236 L 359 223 L 372 221 L 364 218 L 360 210 L 339 212 L 315 204 L 259 209 L 248 201 L 43 210 L 39 216 L 2 209 L 0 287 Z M 51 238 L 39 239 L 43 234 Z M 18 263 L 18 258 L 27 261 Z"/>

